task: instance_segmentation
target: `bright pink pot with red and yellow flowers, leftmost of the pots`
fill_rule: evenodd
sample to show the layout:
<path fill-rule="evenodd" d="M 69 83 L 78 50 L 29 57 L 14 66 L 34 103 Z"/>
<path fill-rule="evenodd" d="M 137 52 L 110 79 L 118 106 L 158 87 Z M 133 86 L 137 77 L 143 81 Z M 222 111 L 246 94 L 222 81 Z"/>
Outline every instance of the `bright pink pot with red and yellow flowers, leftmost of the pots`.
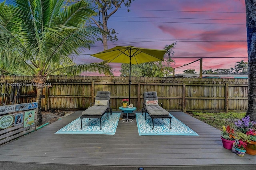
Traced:
<path fill-rule="evenodd" d="M 231 150 L 233 147 L 233 144 L 235 142 L 234 129 L 230 128 L 229 125 L 227 127 L 223 126 L 222 128 L 223 128 L 223 130 L 221 132 L 220 138 L 222 140 L 223 147 Z"/>

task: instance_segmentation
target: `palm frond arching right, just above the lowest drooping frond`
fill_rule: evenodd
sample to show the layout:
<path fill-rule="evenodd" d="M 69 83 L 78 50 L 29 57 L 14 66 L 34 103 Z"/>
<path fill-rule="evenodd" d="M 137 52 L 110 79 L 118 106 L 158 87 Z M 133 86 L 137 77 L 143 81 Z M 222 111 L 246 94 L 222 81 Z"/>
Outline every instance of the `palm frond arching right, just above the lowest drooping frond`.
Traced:
<path fill-rule="evenodd" d="M 57 61 L 57 59 L 65 59 L 71 53 L 80 53 L 80 47 L 90 48 L 100 35 L 100 29 L 93 26 L 87 26 L 84 28 L 74 28 L 74 27 L 62 27 L 58 30 L 49 28 L 46 34 L 46 47 L 48 53 L 49 65 L 51 61 Z"/>

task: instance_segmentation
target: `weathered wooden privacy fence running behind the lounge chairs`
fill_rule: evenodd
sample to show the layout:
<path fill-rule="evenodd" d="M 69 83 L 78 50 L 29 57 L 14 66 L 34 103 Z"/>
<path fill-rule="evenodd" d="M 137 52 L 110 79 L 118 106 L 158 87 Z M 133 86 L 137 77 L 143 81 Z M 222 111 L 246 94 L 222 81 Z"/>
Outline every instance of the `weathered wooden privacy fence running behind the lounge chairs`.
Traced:
<path fill-rule="evenodd" d="M 36 101 L 32 78 L 0 76 L 0 102 L 10 104 L 18 90 L 19 103 Z M 128 77 L 50 76 L 43 90 L 42 109 L 86 109 L 100 90 L 111 92 L 111 107 L 118 109 L 121 100 L 129 96 L 128 81 Z M 142 108 L 144 91 L 157 91 L 159 103 L 168 111 L 247 110 L 248 79 L 132 77 L 131 81 L 130 103 L 138 110 Z"/>

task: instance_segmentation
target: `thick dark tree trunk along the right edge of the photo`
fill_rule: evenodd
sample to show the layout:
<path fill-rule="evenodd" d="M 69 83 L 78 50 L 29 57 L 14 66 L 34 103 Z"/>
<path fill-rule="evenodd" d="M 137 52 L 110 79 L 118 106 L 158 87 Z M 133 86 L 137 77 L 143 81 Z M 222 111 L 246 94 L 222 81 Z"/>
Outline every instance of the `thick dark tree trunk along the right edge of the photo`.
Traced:
<path fill-rule="evenodd" d="M 245 0 L 248 45 L 248 109 L 246 116 L 256 121 L 256 1 Z"/>

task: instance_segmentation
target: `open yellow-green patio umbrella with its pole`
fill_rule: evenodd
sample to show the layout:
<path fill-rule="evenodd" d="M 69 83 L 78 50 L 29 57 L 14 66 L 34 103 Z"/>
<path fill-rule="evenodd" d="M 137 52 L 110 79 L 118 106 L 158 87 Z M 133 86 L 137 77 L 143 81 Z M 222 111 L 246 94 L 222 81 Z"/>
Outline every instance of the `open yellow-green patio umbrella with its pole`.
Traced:
<path fill-rule="evenodd" d="M 92 54 L 108 63 L 130 63 L 129 77 L 129 104 L 131 89 L 131 64 L 147 63 L 151 61 L 163 61 L 166 50 L 148 49 L 134 46 L 116 46 L 114 48 Z"/>

